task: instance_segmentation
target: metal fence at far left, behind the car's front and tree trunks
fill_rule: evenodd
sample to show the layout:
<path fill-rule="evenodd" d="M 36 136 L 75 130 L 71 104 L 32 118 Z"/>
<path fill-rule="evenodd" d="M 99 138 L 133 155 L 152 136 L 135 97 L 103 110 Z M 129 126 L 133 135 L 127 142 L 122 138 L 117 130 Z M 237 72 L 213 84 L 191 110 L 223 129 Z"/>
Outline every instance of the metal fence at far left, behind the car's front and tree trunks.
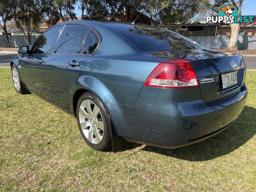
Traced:
<path fill-rule="evenodd" d="M 4 35 L 0 35 L 0 47 L 5 47 L 4 44 Z M 36 40 L 38 37 L 40 36 L 40 34 L 38 35 L 32 35 L 31 36 L 31 41 L 34 42 L 34 40 Z M 26 37 L 22 34 L 22 35 L 8 35 L 9 37 L 9 41 L 10 41 L 10 46 L 11 47 L 20 47 L 20 46 L 26 46 L 28 45 L 28 40 L 26 39 Z"/>

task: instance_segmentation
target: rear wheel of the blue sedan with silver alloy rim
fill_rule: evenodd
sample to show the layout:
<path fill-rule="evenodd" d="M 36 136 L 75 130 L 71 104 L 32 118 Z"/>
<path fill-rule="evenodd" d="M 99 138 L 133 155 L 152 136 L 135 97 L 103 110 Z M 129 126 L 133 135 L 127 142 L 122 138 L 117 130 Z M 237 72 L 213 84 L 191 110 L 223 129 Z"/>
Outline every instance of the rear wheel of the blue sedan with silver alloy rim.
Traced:
<path fill-rule="evenodd" d="M 103 151 L 111 147 L 108 112 L 104 104 L 91 92 L 83 93 L 78 99 L 76 119 L 82 137 L 91 148 Z"/>

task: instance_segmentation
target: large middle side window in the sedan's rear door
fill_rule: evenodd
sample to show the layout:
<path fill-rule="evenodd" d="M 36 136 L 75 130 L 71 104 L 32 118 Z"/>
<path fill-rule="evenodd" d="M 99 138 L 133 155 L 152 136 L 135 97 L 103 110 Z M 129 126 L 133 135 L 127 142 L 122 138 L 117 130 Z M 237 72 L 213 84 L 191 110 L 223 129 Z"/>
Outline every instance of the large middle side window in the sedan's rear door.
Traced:
<path fill-rule="evenodd" d="M 54 53 L 78 54 L 88 28 L 81 25 L 68 24 L 62 30 Z"/>

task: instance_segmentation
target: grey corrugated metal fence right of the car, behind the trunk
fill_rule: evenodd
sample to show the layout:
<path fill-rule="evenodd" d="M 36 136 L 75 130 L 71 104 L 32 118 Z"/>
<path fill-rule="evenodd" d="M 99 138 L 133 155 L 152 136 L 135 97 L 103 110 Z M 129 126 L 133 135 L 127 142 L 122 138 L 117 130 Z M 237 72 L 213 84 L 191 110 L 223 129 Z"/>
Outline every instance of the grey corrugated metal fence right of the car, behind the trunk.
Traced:
<path fill-rule="evenodd" d="M 210 49 L 226 49 L 230 40 L 229 35 L 219 35 L 216 37 L 188 37 L 198 44 Z M 238 36 L 236 44 L 238 50 L 255 50 L 256 36 Z"/>

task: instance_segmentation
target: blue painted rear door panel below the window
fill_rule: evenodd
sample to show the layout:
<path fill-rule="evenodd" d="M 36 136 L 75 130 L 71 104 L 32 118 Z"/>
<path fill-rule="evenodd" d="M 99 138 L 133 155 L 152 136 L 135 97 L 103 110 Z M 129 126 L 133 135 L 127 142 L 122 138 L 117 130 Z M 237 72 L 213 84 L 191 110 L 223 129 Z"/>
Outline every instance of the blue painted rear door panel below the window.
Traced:
<path fill-rule="evenodd" d="M 70 108 L 74 84 L 88 58 L 78 54 L 49 54 L 44 64 L 46 98 Z M 79 62 L 80 66 L 70 66 L 68 62 L 72 61 Z"/>

